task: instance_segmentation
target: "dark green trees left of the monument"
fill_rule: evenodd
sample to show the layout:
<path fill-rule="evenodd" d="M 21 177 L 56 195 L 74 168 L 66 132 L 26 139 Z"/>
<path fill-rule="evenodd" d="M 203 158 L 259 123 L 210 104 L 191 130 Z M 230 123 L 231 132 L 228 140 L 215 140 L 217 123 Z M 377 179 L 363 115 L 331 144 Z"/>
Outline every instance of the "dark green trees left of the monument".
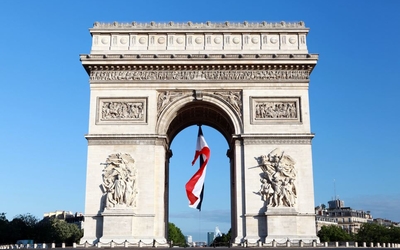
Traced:
<path fill-rule="evenodd" d="M 16 244 L 18 240 L 33 240 L 34 243 L 78 243 L 83 230 L 76 224 L 55 218 L 39 220 L 31 214 L 18 215 L 8 221 L 0 213 L 0 245 Z"/>

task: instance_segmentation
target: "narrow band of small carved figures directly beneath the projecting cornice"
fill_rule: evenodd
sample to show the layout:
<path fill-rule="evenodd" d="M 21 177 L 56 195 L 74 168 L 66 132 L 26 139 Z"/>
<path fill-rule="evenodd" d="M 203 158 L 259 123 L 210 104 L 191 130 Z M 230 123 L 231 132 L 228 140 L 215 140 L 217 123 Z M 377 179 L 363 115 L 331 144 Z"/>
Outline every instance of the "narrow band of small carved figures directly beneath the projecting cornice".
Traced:
<path fill-rule="evenodd" d="M 91 81 L 308 80 L 309 70 L 93 70 Z"/>

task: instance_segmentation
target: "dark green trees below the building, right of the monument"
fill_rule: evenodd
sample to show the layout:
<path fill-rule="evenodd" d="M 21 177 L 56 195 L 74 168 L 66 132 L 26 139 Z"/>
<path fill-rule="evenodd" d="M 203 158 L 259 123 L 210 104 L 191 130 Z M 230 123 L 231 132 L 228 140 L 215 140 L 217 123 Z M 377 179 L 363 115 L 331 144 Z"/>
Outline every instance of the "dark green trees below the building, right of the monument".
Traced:
<path fill-rule="evenodd" d="M 351 234 L 339 226 L 330 225 L 322 226 L 317 236 L 321 242 L 400 243 L 400 227 L 364 223 L 356 234 Z"/>

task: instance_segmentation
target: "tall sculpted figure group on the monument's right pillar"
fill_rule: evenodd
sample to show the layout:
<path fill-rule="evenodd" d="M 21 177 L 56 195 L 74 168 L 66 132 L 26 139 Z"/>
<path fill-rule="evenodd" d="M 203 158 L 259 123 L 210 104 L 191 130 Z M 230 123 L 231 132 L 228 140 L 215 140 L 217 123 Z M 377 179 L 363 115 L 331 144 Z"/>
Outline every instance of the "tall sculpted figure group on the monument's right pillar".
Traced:
<path fill-rule="evenodd" d="M 296 204 L 295 161 L 281 151 L 274 149 L 268 155 L 257 158 L 261 188 L 257 192 L 267 207 L 293 207 Z"/>

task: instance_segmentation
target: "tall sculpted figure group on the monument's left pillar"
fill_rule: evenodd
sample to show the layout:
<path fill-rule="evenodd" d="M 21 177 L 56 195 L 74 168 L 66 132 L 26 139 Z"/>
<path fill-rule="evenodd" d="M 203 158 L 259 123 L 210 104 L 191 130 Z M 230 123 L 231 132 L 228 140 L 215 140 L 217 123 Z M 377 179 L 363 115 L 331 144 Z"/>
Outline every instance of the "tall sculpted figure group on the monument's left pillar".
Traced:
<path fill-rule="evenodd" d="M 103 165 L 103 208 L 136 207 L 137 169 L 130 154 L 111 154 Z"/>

